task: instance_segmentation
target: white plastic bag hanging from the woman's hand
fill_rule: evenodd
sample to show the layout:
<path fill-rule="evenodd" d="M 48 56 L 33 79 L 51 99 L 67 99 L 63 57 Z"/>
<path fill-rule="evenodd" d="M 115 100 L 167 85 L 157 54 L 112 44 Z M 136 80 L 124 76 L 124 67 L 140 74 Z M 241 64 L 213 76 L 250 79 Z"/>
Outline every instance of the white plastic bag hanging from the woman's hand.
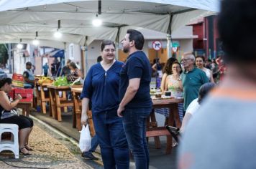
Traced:
<path fill-rule="evenodd" d="M 91 148 L 91 135 L 88 125 L 86 125 L 86 127 L 83 125 L 83 128 L 81 130 L 79 148 L 82 153 L 90 150 Z"/>

